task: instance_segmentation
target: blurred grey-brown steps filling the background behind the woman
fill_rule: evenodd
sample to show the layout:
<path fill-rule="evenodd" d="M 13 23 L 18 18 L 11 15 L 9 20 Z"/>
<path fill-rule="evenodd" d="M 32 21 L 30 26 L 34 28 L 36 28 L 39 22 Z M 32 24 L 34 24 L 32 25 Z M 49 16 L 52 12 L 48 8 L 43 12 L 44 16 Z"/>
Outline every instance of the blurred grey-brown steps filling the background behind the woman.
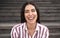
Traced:
<path fill-rule="evenodd" d="M 11 28 L 20 23 L 20 11 L 26 1 L 34 1 L 41 23 L 49 28 L 49 38 L 60 38 L 60 0 L 0 0 L 0 38 L 11 38 Z"/>

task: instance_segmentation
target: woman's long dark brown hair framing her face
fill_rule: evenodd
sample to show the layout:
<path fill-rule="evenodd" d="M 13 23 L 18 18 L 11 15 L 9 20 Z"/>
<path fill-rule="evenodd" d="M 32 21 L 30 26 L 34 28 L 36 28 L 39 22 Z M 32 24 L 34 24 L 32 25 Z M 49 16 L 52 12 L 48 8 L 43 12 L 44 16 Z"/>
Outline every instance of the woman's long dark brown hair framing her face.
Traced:
<path fill-rule="evenodd" d="M 40 23 L 40 15 L 39 15 L 40 13 L 39 13 L 39 10 L 38 10 L 37 6 L 35 5 L 36 3 L 34 3 L 34 2 L 26 2 L 26 3 L 22 6 L 22 9 L 21 9 L 21 23 L 26 22 L 26 19 L 25 19 L 25 16 L 24 16 L 24 11 L 25 11 L 25 7 L 26 7 L 28 4 L 31 4 L 31 5 L 33 5 L 33 6 L 35 7 L 35 9 L 36 9 L 36 11 L 37 11 L 37 15 L 38 15 L 36 22 Z"/>

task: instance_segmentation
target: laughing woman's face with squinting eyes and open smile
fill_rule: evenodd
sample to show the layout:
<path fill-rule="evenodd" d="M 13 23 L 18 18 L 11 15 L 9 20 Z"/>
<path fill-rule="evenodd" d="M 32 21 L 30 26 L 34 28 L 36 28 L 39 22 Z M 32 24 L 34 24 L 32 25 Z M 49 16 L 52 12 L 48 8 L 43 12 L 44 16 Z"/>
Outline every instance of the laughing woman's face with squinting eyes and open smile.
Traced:
<path fill-rule="evenodd" d="M 37 20 L 37 11 L 35 9 L 35 7 L 31 4 L 28 4 L 25 7 L 25 11 L 24 11 L 24 16 L 25 19 L 28 23 L 36 23 Z"/>

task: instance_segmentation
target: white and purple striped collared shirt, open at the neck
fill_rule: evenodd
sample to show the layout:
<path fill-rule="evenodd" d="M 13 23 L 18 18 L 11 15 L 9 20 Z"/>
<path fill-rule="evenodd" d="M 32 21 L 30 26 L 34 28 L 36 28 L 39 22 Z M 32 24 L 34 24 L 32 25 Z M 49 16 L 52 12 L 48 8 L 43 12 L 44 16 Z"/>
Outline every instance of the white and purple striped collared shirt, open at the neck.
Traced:
<path fill-rule="evenodd" d="M 49 30 L 46 26 L 37 23 L 33 36 L 28 34 L 26 23 L 15 25 L 11 30 L 11 38 L 48 38 Z"/>

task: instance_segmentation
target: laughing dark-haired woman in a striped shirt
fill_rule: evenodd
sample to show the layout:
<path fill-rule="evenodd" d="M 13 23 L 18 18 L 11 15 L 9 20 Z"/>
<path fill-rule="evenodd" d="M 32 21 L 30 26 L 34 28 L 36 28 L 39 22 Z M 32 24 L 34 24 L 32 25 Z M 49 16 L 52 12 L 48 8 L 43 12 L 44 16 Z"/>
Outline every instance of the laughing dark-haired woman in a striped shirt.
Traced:
<path fill-rule="evenodd" d="M 49 30 L 40 24 L 39 11 L 33 2 L 22 7 L 21 23 L 11 30 L 11 38 L 48 38 Z"/>

